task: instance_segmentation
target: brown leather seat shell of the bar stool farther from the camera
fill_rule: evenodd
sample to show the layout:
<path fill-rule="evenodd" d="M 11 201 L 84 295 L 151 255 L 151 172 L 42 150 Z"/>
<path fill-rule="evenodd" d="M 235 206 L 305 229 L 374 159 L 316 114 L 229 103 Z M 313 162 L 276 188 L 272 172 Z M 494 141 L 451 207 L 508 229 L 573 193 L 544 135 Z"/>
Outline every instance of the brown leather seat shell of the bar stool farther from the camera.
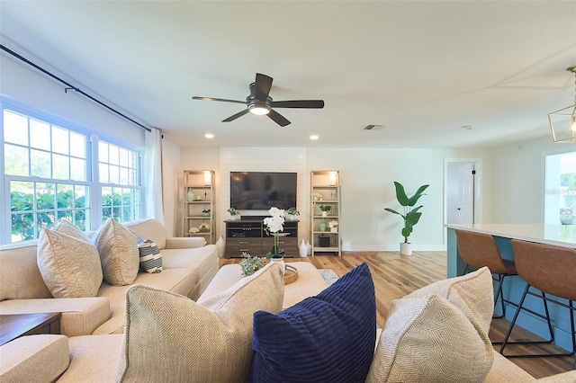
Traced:
<path fill-rule="evenodd" d="M 458 253 L 466 263 L 476 269 L 487 266 L 491 272 L 506 274 L 506 267 L 500 256 L 496 241 L 489 234 L 455 230 Z"/>

